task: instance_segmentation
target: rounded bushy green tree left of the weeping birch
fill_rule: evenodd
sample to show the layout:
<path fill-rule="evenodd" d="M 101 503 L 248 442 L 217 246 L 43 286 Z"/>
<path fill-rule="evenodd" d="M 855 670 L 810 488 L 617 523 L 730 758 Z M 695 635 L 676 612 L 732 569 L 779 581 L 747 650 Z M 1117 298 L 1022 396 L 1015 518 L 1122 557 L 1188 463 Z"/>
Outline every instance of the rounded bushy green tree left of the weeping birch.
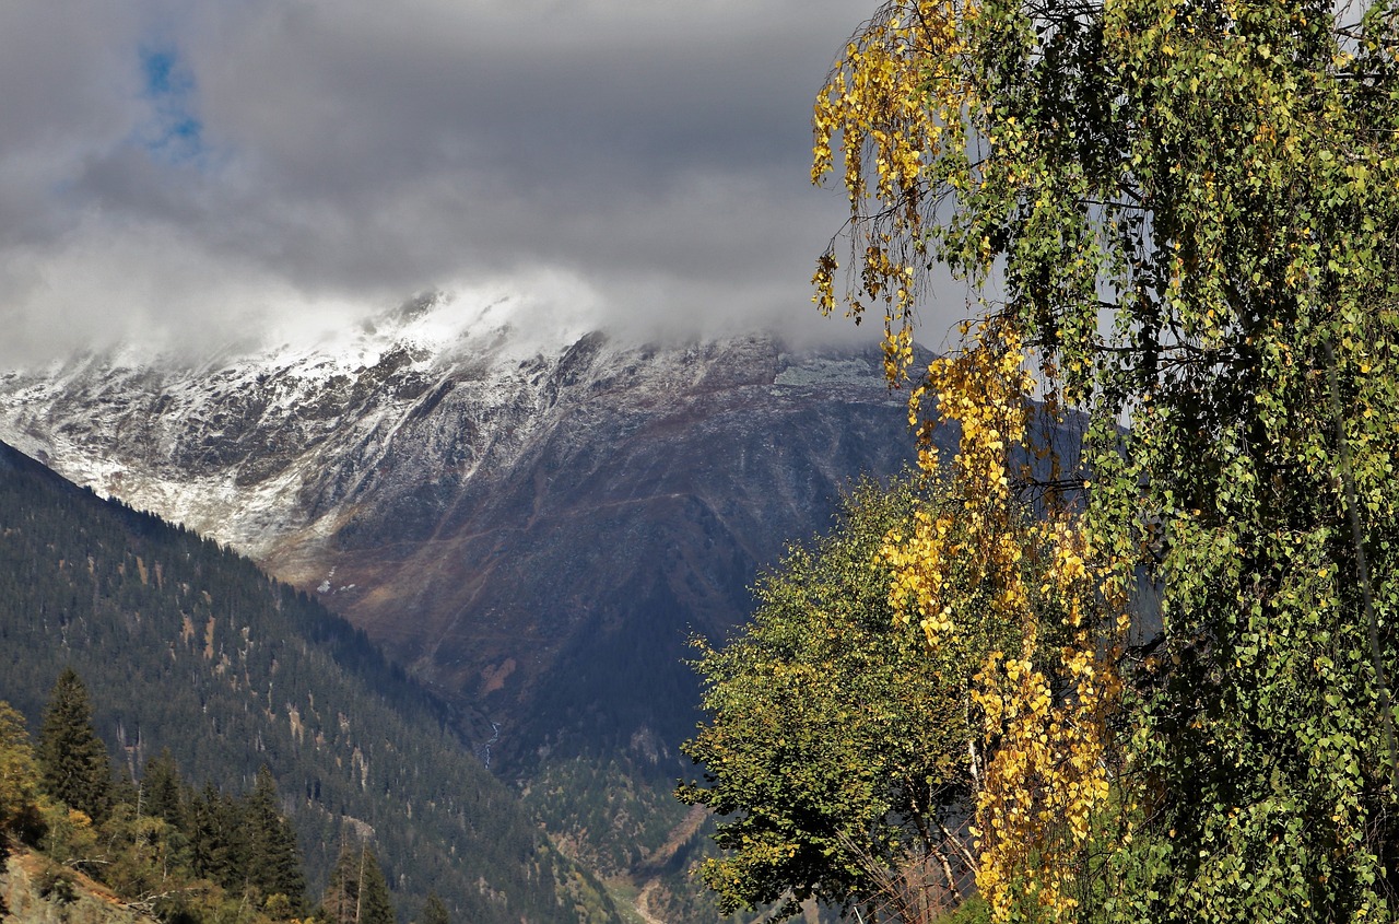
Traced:
<path fill-rule="evenodd" d="M 723 819 L 726 854 L 704 876 L 725 913 L 782 902 L 795 914 L 814 896 L 915 923 L 964 897 L 972 676 L 1018 626 L 983 620 L 932 652 L 902 629 L 879 556 L 886 536 L 916 529 L 915 504 L 954 508 L 915 483 L 858 486 L 830 535 L 758 581 L 741 634 L 694 643 L 708 721 L 683 750 L 705 774 L 677 797 Z M 985 609 L 964 589 L 963 606 Z"/>

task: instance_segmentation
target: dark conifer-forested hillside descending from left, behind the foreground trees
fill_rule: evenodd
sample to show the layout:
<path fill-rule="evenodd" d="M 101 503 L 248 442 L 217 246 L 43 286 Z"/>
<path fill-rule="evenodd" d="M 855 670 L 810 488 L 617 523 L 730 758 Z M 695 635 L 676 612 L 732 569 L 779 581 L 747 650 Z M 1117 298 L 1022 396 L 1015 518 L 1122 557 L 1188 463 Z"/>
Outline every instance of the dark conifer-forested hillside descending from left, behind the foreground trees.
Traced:
<path fill-rule="evenodd" d="M 348 834 L 395 902 L 455 920 L 613 920 L 460 746 L 445 707 L 362 633 L 249 561 L 63 482 L 0 444 L 0 699 L 36 727 L 73 666 L 118 763 L 169 749 L 248 790 L 273 771 L 319 895 Z"/>

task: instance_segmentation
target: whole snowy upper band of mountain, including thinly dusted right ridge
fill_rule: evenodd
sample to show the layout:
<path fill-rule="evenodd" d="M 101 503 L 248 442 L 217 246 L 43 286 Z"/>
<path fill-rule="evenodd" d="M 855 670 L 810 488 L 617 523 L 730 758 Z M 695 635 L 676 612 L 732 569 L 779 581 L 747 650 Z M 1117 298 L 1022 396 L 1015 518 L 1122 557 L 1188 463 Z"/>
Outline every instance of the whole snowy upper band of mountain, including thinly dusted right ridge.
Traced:
<path fill-rule="evenodd" d="M 192 363 L 120 346 L 0 374 L 0 440 L 266 557 L 336 533 L 346 504 L 404 459 L 416 470 L 395 477 L 466 484 L 607 393 L 655 409 L 743 382 L 879 381 L 870 354 L 789 354 L 767 337 L 634 346 L 560 322 L 551 304 L 425 293 L 353 325 L 291 319 L 270 349 Z"/>

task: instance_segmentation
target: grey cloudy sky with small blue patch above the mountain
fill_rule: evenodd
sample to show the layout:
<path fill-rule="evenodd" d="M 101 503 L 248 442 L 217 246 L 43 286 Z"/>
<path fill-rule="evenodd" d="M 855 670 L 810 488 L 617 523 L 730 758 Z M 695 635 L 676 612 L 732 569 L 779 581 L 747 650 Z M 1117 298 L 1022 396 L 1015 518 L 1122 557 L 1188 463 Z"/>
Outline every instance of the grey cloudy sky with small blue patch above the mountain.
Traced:
<path fill-rule="evenodd" d="M 537 280 L 810 328 L 810 104 L 873 6 L 8 0 L 0 351 Z"/>

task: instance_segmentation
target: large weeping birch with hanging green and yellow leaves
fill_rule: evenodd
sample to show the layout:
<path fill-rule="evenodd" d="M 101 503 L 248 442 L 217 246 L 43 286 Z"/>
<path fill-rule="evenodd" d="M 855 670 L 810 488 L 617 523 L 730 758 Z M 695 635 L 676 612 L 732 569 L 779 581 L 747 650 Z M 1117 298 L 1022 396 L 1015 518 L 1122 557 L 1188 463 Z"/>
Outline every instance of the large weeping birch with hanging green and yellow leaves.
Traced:
<path fill-rule="evenodd" d="M 1069 601 L 1058 655 L 982 671 L 997 920 L 1399 910 L 1399 17 L 1349 15 L 898 0 L 818 98 L 814 176 L 838 141 L 855 272 L 838 294 L 832 246 L 817 301 L 881 308 L 900 381 L 926 270 L 971 284 L 911 417 L 936 398 L 961 423 L 983 547 L 1044 511 Z M 1083 421 L 1081 455 L 1028 426 L 1032 396 Z M 1051 476 L 1009 466 L 1016 445 Z M 954 630 L 944 543 L 895 545 L 925 631 Z M 993 599 L 1032 640 L 1048 622 L 1003 564 Z"/>

